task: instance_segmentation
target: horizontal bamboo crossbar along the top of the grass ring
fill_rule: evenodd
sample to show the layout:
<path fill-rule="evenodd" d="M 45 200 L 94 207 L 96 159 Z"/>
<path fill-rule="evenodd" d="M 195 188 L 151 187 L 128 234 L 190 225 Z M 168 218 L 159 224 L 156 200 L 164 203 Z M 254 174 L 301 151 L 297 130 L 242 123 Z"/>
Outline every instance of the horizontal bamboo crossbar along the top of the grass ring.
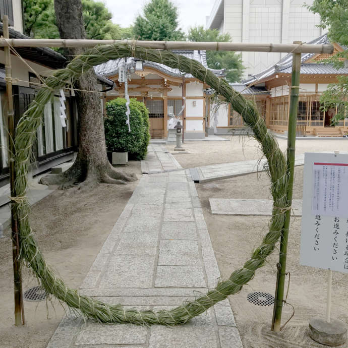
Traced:
<path fill-rule="evenodd" d="M 66 40 L 66 39 L 5 39 L 0 38 L 0 47 L 91 47 L 100 44 L 123 43 L 157 49 L 205 49 L 213 51 L 333 53 L 331 44 L 283 44 L 283 43 L 235 43 L 235 42 L 190 42 L 190 41 L 137 41 L 137 40 Z"/>

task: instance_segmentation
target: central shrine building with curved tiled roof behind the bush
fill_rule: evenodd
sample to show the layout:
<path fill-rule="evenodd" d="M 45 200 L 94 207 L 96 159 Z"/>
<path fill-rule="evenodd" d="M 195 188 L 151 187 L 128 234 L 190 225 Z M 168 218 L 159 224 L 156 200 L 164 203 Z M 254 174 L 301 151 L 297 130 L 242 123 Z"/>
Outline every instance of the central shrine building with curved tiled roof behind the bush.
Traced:
<path fill-rule="evenodd" d="M 205 51 L 179 50 L 175 53 L 185 55 L 207 67 Z M 134 68 L 130 74 L 129 96 L 143 101 L 149 109 L 150 133 L 152 138 L 166 138 L 169 114 L 178 115 L 183 103 L 185 108 L 181 116 L 186 139 L 202 139 L 209 127 L 209 99 L 206 89 L 209 88 L 190 74 L 178 69 L 171 69 L 163 64 L 144 61 L 142 70 L 136 69 L 136 59 L 128 58 L 127 65 Z M 111 60 L 95 67 L 95 71 L 115 83 L 104 101 L 124 96 L 125 85 L 119 81 L 119 68 L 124 59 Z M 217 76 L 223 77 L 224 70 L 212 70 Z"/>

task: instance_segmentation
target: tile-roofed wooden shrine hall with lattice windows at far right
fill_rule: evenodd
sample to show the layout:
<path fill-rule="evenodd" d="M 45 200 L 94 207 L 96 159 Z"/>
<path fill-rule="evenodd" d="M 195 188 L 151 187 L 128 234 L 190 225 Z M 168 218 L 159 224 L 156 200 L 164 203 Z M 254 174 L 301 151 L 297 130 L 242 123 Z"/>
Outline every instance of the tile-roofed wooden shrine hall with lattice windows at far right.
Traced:
<path fill-rule="evenodd" d="M 325 34 L 308 43 L 326 44 L 329 43 L 329 40 Z M 344 49 L 337 43 L 333 43 L 333 46 L 332 55 Z M 348 115 L 336 126 L 331 126 L 331 119 L 336 114 L 337 107 L 327 111 L 320 109 L 321 93 L 327 89 L 329 84 L 338 82 L 337 76 L 348 75 L 348 65 L 335 69 L 332 64 L 323 62 L 329 57 L 330 54 L 302 53 L 297 123 L 298 126 L 302 126 L 300 128 L 304 135 L 337 137 L 348 132 Z M 277 133 L 287 131 L 292 63 L 292 54 L 289 53 L 274 66 L 244 81 L 248 87 L 259 87 L 268 91 L 265 111 L 266 125 Z"/>

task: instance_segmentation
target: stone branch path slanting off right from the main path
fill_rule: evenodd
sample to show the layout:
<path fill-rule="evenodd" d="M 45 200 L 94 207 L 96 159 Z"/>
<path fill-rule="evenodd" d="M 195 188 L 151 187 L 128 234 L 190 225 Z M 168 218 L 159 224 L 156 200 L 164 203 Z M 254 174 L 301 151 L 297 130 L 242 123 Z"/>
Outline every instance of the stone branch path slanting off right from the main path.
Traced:
<path fill-rule="evenodd" d="M 304 155 L 298 155 L 295 158 L 295 165 L 303 165 Z M 205 183 L 213 180 L 233 178 L 240 175 L 263 171 L 266 159 L 249 160 L 241 162 L 231 162 L 222 164 L 212 164 L 196 168 L 191 168 L 192 179 L 197 183 Z"/>

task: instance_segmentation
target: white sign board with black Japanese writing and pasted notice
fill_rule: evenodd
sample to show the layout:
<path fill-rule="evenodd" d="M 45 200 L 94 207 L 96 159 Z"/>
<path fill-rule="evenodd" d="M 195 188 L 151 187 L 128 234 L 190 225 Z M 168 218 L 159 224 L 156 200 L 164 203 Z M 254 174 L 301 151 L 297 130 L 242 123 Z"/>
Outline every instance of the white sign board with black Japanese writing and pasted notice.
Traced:
<path fill-rule="evenodd" d="M 305 153 L 300 263 L 348 273 L 348 155 Z"/>

